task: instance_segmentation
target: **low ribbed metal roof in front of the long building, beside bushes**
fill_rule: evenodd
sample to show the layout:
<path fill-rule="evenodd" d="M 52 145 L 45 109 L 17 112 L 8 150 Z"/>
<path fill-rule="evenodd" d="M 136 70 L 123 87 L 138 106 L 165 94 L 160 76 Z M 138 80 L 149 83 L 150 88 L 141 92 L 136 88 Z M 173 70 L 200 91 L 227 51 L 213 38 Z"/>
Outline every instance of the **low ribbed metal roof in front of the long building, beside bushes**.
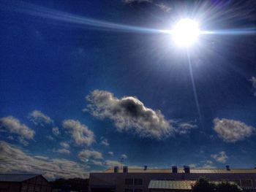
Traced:
<path fill-rule="evenodd" d="M 192 180 L 151 180 L 148 189 L 191 190 L 195 182 Z"/>

